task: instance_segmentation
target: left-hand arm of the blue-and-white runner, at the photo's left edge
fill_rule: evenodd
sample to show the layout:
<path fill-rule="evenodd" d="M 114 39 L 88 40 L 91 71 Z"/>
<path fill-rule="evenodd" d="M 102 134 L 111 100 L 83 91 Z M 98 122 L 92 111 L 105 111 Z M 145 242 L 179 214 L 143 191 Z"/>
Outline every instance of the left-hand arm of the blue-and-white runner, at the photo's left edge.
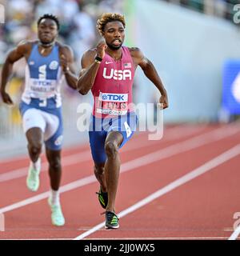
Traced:
<path fill-rule="evenodd" d="M 11 50 L 6 56 L 6 61 L 2 67 L 2 81 L 0 83 L 2 101 L 6 104 L 13 104 L 10 95 L 6 93 L 6 84 L 10 78 L 10 74 L 12 73 L 14 62 L 17 62 L 18 59 L 25 56 L 29 46 L 29 43 L 20 44 L 14 48 L 14 50 Z"/>

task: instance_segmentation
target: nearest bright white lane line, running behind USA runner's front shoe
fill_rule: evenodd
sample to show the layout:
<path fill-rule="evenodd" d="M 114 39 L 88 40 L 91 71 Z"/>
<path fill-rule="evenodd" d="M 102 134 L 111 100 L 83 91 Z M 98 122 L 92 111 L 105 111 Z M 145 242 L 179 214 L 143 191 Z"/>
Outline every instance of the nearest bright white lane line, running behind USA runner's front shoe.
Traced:
<path fill-rule="evenodd" d="M 230 150 L 227 150 L 226 152 L 218 155 L 218 157 L 213 158 L 209 162 L 206 162 L 202 166 L 199 166 L 197 169 L 190 171 L 190 173 L 183 175 L 181 178 L 176 179 L 174 182 L 171 182 L 167 186 L 164 186 L 162 189 L 154 192 L 153 194 L 150 194 L 148 197 L 142 199 L 141 201 L 135 203 L 133 206 L 130 206 L 129 208 L 126 208 L 126 210 L 122 210 L 118 216 L 119 218 L 122 218 L 126 216 L 127 214 L 130 214 L 134 212 L 135 210 L 138 210 L 142 206 L 146 206 L 150 202 L 154 201 L 156 198 L 161 197 L 162 195 L 174 190 L 178 186 L 182 186 L 186 182 L 190 182 L 192 179 L 197 178 L 198 176 L 205 174 L 207 171 L 212 170 L 213 168 L 221 165 L 222 163 L 229 161 L 231 158 L 234 158 L 240 154 L 240 144 L 237 146 L 234 146 Z M 98 224 L 97 226 L 94 226 L 92 229 L 80 234 L 78 237 L 74 238 L 74 240 L 81 240 L 83 238 L 86 238 L 90 234 L 93 234 L 94 232 L 100 230 L 103 226 L 105 226 L 105 222 L 102 222 Z"/>

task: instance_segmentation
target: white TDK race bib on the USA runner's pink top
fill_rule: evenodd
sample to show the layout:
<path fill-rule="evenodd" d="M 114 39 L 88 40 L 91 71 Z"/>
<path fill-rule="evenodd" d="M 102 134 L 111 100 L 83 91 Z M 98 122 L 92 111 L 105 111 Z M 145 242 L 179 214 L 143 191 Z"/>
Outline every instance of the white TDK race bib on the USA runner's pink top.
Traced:
<path fill-rule="evenodd" d="M 98 114 L 122 115 L 127 114 L 128 94 L 109 94 L 100 92 L 96 98 Z"/>

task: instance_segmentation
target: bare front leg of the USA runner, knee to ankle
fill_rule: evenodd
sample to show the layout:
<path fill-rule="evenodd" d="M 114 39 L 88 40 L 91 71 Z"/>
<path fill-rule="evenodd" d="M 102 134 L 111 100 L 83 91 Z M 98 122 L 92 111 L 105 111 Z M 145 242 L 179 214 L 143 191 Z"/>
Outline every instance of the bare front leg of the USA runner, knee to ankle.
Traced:
<path fill-rule="evenodd" d="M 114 211 L 115 198 L 118 190 L 118 177 L 120 170 L 120 158 L 118 147 L 123 141 L 123 136 L 118 131 L 110 131 L 106 137 L 105 151 L 106 163 L 104 166 L 106 187 L 108 192 L 108 204 L 106 211 Z"/>

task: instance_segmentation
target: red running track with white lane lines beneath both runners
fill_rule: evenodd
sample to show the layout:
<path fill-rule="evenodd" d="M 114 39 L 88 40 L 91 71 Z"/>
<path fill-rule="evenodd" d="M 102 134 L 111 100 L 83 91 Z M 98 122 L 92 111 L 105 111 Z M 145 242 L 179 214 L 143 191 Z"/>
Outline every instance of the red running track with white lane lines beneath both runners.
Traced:
<path fill-rule="evenodd" d="M 98 225 L 104 215 L 88 145 L 62 154 L 62 227 L 50 223 L 46 159 L 37 193 L 26 189 L 27 158 L 0 162 L 0 212 L 5 217 L 0 238 L 228 239 L 234 213 L 240 212 L 239 135 L 236 124 L 167 127 L 160 141 L 148 141 L 146 133 L 134 135 L 121 150 L 118 230 Z M 155 198 L 148 198 L 156 191 Z"/>

